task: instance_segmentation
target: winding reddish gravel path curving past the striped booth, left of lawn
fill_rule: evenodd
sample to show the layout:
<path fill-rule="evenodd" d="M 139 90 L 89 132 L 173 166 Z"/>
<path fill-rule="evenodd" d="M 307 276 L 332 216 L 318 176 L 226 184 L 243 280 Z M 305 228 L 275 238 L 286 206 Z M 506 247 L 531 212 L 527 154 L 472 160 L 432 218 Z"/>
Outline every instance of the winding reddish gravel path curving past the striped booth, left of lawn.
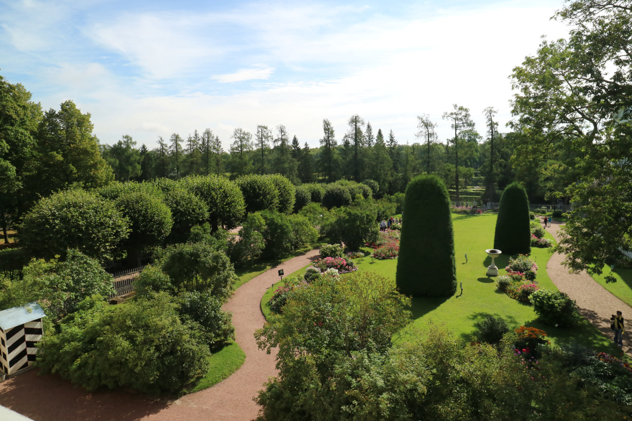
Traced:
<path fill-rule="evenodd" d="M 276 374 L 275 355 L 257 348 L 253 333 L 263 326 L 260 300 L 279 280 L 278 269 L 290 274 L 317 258 L 318 250 L 294 257 L 253 278 L 235 291 L 224 310 L 233 312 L 237 343 L 246 354 L 228 379 L 178 400 L 151 400 L 144 395 L 106 391 L 88 393 L 58 375 L 30 370 L 0 383 L 0 405 L 36 421 L 71 420 L 238 420 L 257 417 L 252 400 L 264 382 Z"/>

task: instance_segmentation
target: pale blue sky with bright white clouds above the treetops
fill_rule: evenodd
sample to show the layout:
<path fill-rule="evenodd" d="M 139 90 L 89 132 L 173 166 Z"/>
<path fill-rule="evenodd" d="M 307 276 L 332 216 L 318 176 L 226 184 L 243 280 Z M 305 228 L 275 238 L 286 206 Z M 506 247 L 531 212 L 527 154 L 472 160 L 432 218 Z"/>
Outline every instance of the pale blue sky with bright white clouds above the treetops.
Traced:
<path fill-rule="evenodd" d="M 286 126 L 317 147 L 323 119 L 341 142 L 354 114 L 374 133 L 415 137 L 417 116 L 483 109 L 509 131 L 512 69 L 562 0 L 164 1 L 0 0 L 0 75 L 44 110 L 67 100 L 90 113 L 100 143 L 210 128 L 229 149 L 235 128 Z"/>

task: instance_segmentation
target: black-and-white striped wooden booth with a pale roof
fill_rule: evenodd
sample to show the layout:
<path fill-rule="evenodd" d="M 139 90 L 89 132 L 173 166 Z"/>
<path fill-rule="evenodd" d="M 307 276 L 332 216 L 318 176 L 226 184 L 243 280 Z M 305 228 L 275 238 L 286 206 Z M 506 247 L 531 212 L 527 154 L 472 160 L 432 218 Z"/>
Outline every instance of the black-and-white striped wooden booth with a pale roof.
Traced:
<path fill-rule="evenodd" d="M 11 375 L 35 361 L 44 310 L 36 302 L 0 312 L 0 369 Z"/>

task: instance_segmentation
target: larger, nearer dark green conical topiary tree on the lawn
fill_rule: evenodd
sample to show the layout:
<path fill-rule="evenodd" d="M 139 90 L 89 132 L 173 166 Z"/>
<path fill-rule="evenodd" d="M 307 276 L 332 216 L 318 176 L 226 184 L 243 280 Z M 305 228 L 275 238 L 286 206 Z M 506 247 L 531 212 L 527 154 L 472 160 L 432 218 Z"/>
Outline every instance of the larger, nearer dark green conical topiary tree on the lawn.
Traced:
<path fill-rule="evenodd" d="M 418 176 L 406 187 L 396 282 L 412 296 L 456 291 L 450 197 L 437 176 Z"/>

